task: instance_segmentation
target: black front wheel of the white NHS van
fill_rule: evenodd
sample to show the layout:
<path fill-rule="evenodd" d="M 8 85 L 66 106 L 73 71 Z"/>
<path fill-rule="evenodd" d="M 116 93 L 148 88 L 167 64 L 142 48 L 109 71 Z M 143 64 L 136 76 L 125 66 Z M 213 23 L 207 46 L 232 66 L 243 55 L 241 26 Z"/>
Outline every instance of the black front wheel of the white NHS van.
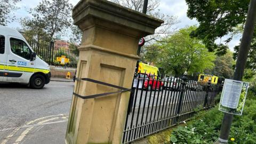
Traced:
<path fill-rule="evenodd" d="M 32 89 L 42 89 L 45 85 L 45 78 L 42 75 L 34 75 L 30 79 L 30 87 Z"/>

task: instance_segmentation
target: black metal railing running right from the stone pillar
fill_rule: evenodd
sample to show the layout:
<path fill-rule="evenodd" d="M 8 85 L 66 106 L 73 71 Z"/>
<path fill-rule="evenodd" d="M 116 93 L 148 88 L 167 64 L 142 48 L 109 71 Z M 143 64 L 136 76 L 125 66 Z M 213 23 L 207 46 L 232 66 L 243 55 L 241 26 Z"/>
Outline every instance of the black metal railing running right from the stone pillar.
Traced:
<path fill-rule="evenodd" d="M 162 131 L 214 106 L 218 85 L 139 74 L 133 79 L 123 143 Z"/>

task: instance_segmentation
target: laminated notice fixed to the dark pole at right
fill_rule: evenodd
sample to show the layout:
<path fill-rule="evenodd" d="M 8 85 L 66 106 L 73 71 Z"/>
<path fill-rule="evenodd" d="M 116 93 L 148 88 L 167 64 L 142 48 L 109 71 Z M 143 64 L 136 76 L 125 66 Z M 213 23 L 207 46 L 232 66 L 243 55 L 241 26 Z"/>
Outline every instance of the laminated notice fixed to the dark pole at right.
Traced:
<path fill-rule="evenodd" d="M 219 110 L 225 113 L 242 115 L 249 83 L 225 79 Z"/>

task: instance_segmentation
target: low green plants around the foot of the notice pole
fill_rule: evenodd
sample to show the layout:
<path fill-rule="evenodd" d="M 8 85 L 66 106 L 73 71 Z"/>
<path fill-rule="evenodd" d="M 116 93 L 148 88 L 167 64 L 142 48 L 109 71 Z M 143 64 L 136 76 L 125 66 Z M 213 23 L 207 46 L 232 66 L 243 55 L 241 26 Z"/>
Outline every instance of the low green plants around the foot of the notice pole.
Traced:
<path fill-rule="evenodd" d="M 255 143 L 256 141 L 256 97 L 251 91 L 242 116 L 234 116 L 229 143 Z M 201 111 L 186 126 L 180 126 L 170 135 L 171 143 L 213 143 L 219 137 L 223 113 L 218 106 L 209 111 Z"/>

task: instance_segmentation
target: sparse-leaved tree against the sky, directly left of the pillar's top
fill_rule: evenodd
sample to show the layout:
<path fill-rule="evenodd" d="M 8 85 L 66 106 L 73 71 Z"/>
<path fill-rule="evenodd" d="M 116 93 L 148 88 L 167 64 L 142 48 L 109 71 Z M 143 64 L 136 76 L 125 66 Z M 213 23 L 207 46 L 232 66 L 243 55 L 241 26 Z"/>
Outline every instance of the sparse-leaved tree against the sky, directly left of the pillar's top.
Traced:
<path fill-rule="evenodd" d="M 22 26 L 30 31 L 30 37 L 46 34 L 52 40 L 55 34 L 71 26 L 72 7 L 68 0 L 43 0 L 34 9 L 30 9 L 32 18 L 21 19 Z"/>

